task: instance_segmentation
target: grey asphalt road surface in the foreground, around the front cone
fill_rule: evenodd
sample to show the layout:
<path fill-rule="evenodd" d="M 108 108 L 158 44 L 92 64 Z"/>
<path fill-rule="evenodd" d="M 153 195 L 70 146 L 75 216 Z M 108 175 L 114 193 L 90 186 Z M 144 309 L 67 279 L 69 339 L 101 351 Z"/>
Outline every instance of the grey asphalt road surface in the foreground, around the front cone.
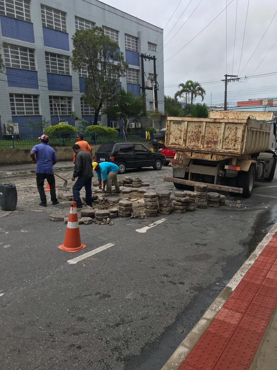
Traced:
<path fill-rule="evenodd" d="M 276 222 L 276 179 L 255 187 L 145 233 L 152 219 L 80 225 L 76 253 L 57 249 L 65 225 L 45 212 L 1 217 L 1 369 L 160 370 Z"/>

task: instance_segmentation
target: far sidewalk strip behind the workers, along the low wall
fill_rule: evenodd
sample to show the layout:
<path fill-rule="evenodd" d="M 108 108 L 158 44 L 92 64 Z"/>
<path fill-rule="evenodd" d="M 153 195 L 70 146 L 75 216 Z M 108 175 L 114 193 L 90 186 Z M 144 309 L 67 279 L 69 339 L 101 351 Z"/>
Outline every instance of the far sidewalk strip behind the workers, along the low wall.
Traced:
<path fill-rule="evenodd" d="M 54 166 L 54 171 L 62 171 L 65 169 L 71 169 L 74 167 L 72 161 L 58 162 Z M 16 175 L 25 175 L 34 173 L 36 165 L 32 162 L 27 164 L 11 164 L 11 165 L 0 165 L 0 178 L 11 177 Z"/>

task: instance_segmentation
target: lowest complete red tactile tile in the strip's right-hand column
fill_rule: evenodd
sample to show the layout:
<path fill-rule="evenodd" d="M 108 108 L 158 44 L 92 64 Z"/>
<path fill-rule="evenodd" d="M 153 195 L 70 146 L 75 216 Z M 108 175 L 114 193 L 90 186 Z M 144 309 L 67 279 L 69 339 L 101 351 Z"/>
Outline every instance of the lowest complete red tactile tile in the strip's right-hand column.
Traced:
<path fill-rule="evenodd" d="M 222 357 L 244 366 L 250 366 L 256 350 L 230 341 L 222 353 Z"/>

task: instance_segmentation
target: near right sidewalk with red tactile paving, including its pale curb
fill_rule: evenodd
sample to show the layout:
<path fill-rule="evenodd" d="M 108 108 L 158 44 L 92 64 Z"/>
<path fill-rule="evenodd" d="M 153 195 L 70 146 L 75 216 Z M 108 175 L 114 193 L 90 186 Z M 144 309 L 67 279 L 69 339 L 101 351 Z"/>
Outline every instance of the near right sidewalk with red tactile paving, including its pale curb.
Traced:
<path fill-rule="evenodd" d="M 277 369 L 276 231 L 277 224 L 163 370 Z"/>

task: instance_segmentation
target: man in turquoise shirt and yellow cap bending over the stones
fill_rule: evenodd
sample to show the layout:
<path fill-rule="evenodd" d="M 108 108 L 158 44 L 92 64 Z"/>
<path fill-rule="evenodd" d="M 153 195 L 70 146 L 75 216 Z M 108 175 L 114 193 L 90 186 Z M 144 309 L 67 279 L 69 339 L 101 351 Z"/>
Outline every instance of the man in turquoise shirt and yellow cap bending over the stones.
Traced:
<path fill-rule="evenodd" d="M 99 183 L 99 189 L 102 189 L 102 180 L 101 175 L 103 177 L 103 189 L 102 192 L 105 193 L 105 186 L 107 184 L 107 191 L 106 193 L 120 193 L 118 181 L 117 181 L 117 172 L 119 171 L 119 166 L 112 162 L 93 162 L 92 168 L 96 171 Z M 112 182 L 115 186 L 115 191 L 112 191 Z"/>

